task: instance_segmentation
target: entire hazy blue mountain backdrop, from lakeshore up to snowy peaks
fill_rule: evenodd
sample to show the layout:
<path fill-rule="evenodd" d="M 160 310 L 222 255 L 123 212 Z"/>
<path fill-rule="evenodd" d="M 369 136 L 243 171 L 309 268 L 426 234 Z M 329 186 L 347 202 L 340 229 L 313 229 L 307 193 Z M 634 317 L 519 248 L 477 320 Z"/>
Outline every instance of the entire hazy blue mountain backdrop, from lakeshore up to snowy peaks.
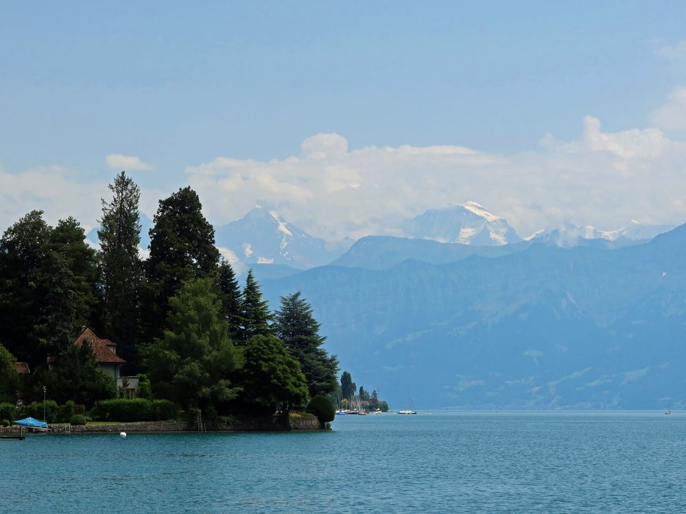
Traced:
<path fill-rule="evenodd" d="M 273 309 L 302 291 L 327 349 L 394 408 L 408 390 L 424 408 L 686 408 L 686 225 L 521 238 L 466 202 L 403 227 L 332 243 L 258 206 L 215 232 Z"/>

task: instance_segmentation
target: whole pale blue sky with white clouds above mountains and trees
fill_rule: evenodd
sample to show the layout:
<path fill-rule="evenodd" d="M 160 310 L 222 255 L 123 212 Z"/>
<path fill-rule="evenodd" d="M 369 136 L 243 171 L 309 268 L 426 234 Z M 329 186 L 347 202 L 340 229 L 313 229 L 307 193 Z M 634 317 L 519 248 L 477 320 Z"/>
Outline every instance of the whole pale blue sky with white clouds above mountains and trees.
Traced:
<path fill-rule="evenodd" d="M 0 16 L 0 230 L 191 184 L 327 238 L 473 199 L 521 235 L 686 221 L 683 2 L 21 2 Z"/>

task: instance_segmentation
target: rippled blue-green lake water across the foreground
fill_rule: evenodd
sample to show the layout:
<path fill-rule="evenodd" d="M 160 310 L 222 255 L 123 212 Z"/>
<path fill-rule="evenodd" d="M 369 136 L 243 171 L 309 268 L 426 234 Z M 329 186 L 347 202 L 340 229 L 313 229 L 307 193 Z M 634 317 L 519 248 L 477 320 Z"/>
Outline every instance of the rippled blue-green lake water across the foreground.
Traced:
<path fill-rule="evenodd" d="M 0 441 L 0 506 L 49 513 L 686 512 L 686 414 L 337 417 L 332 432 Z"/>

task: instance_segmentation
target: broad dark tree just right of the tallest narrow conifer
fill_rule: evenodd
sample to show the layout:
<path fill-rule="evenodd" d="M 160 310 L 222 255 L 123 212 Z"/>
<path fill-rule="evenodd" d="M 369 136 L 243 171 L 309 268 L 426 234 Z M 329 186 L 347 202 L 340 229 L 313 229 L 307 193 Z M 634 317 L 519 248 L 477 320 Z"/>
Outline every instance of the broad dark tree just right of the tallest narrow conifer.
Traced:
<path fill-rule="evenodd" d="M 150 258 L 145 263 L 145 341 L 161 336 L 169 299 L 181 285 L 214 276 L 218 262 L 214 229 L 202 215 L 198 194 L 185 187 L 160 200 L 150 229 Z"/>

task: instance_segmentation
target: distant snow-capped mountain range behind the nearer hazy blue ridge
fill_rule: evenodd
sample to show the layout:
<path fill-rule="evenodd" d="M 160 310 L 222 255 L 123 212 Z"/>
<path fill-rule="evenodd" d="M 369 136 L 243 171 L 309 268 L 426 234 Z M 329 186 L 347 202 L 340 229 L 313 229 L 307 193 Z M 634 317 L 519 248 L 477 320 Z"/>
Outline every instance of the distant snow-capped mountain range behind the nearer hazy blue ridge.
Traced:
<path fill-rule="evenodd" d="M 141 252 L 150 244 L 152 219 L 141 213 Z M 233 262 L 237 273 L 250 267 L 259 275 L 276 278 L 298 270 L 335 265 L 386 269 L 408 258 L 433 264 L 460 260 L 471 255 L 501 256 L 519 252 L 530 243 L 558 247 L 602 247 L 614 249 L 649 241 L 674 225 L 645 225 L 630 221 L 623 228 L 602 231 L 590 225 L 563 223 L 526 238 L 475 201 L 431 209 L 407 219 L 404 237 L 366 236 L 355 242 L 325 241 L 286 221 L 273 209 L 255 206 L 244 217 L 215 228 L 215 244 Z M 88 232 L 97 245 L 97 229 Z M 429 242 L 424 244 L 423 241 Z M 265 265 L 278 265 L 269 269 Z"/>

